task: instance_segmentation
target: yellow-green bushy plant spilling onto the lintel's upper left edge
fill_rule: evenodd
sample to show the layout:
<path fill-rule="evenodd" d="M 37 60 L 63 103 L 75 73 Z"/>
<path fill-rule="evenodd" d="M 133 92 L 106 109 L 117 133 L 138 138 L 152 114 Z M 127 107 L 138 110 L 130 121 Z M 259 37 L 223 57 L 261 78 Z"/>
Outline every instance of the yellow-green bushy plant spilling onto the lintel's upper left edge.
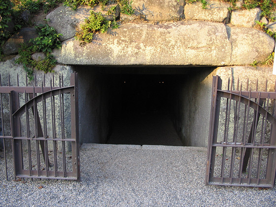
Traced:
<path fill-rule="evenodd" d="M 92 41 L 94 33 L 104 33 L 110 27 L 111 21 L 107 21 L 101 12 L 95 13 L 90 11 L 90 16 L 85 19 L 84 24 L 80 26 L 80 30 L 76 32 L 76 39 L 81 41 L 81 44 Z"/>

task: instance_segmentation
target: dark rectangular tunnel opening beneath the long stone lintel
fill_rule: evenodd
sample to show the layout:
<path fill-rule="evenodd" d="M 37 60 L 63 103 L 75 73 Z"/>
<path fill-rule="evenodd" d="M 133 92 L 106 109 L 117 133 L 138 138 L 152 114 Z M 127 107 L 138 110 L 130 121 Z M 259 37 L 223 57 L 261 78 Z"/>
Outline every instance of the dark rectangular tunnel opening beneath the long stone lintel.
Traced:
<path fill-rule="evenodd" d="M 86 66 L 75 70 L 81 143 L 191 145 L 182 120 L 187 109 L 182 105 L 190 99 L 187 93 L 192 99 L 198 95 L 191 80 L 206 77 L 213 68 Z"/>

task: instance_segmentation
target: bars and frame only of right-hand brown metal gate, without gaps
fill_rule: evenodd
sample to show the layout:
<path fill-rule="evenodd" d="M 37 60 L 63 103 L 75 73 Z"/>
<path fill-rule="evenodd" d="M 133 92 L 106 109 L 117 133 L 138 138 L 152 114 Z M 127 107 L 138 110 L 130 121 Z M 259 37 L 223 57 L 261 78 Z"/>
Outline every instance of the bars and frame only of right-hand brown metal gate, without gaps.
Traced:
<path fill-rule="evenodd" d="M 263 101 L 265 99 L 274 99 L 276 100 L 276 92 L 258 92 L 258 80 L 256 83 L 256 91 L 253 92 L 248 91 L 248 79 L 247 79 L 247 91 L 242 91 L 242 84 L 239 91 L 239 79 L 238 79 L 238 91 L 232 90 L 233 86 L 233 80 L 231 81 L 230 86 L 230 79 L 228 80 L 228 90 L 221 90 L 222 86 L 222 80 L 221 78 L 217 76 L 213 76 L 213 82 L 212 82 L 212 98 L 211 98 L 211 109 L 210 109 L 210 125 L 209 125 L 209 138 L 208 138 L 208 151 L 207 151 L 207 168 L 206 168 L 206 185 L 232 185 L 232 186 L 251 186 L 251 187 L 273 187 L 275 183 L 275 174 L 276 174 L 276 101 L 274 101 L 274 107 L 273 107 L 273 114 L 270 114 L 265 108 L 262 107 Z M 230 86 L 230 88 L 229 88 Z M 266 90 L 267 90 L 267 82 L 266 82 Z M 276 91 L 276 90 L 275 90 Z M 235 142 L 228 142 L 227 137 L 226 140 L 222 143 L 217 142 L 217 136 L 218 136 L 218 124 L 219 124 L 219 115 L 220 115 L 220 102 L 221 98 L 227 98 L 227 107 L 226 107 L 226 114 L 230 114 L 231 109 L 231 101 L 236 101 L 236 106 L 239 103 L 239 110 L 240 110 L 240 103 L 243 103 L 247 105 L 248 111 L 249 107 L 254 109 L 254 117 L 252 122 L 252 127 L 249 133 L 248 141 L 246 142 L 246 134 L 245 137 L 242 138 L 241 143 L 237 143 L 237 135 Z M 250 99 L 255 99 L 255 102 L 253 102 Z M 258 103 L 257 103 L 258 100 Z M 247 102 L 247 103 L 246 103 Z M 228 104 L 229 110 L 228 110 Z M 268 102 L 267 102 L 268 104 Z M 228 111 L 227 111 L 228 110 Z M 265 122 L 269 121 L 272 125 L 271 127 L 271 137 L 270 137 L 270 144 L 264 144 L 264 141 L 262 141 L 262 144 L 255 143 L 255 134 L 256 134 L 256 128 L 258 125 L 260 114 L 265 115 Z M 247 117 L 248 119 L 248 117 Z M 256 121 L 257 120 L 257 121 Z M 248 121 L 248 120 L 247 120 Z M 234 119 L 234 122 L 235 119 Z M 237 127 L 237 128 L 236 128 Z M 244 127 L 244 125 L 243 125 Z M 247 128 L 247 123 L 246 123 Z M 226 125 L 225 122 L 225 132 L 228 133 L 229 130 L 229 120 L 228 125 Z M 234 131 L 237 133 L 238 126 L 235 126 L 234 124 Z M 253 139 L 251 139 L 253 137 Z M 223 147 L 223 158 L 222 158 L 222 170 L 220 177 L 214 177 L 214 164 L 215 164 L 215 155 L 216 155 L 216 147 Z M 239 168 L 239 178 L 233 177 L 233 164 L 231 163 L 230 167 L 230 177 L 224 176 L 224 164 L 225 162 L 225 154 L 226 154 L 226 148 L 231 147 L 232 148 L 232 156 L 231 156 L 231 162 L 233 161 L 233 150 L 234 153 L 236 153 L 236 148 L 241 148 L 242 157 L 240 160 L 240 168 Z M 241 173 L 242 169 L 246 169 L 248 159 L 246 160 L 246 156 L 249 157 L 249 154 L 251 157 L 253 157 L 252 149 L 258 148 L 258 149 L 268 149 L 268 160 L 267 160 L 267 170 L 266 170 L 266 178 L 261 179 L 259 177 L 260 172 L 258 172 L 257 178 L 250 177 L 251 173 L 251 164 L 249 164 L 249 177 L 242 178 Z M 249 149 L 249 150 L 248 150 Z M 252 158 L 251 158 L 252 159 Z M 234 154 L 234 160 L 235 160 L 235 154 Z M 259 157 L 260 160 L 260 157 Z M 232 174 L 231 174 L 232 171 Z"/>

